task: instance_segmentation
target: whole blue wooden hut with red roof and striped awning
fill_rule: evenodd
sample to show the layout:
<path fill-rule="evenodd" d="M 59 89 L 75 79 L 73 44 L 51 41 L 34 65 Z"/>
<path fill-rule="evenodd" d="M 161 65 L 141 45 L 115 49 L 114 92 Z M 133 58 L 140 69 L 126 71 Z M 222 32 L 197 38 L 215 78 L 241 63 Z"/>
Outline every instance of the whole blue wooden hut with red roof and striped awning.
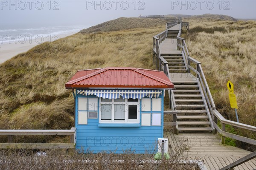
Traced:
<path fill-rule="evenodd" d="M 77 71 L 65 84 L 75 96 L 76 149 L 81 152 L 156 153 L 163 138 L 162 71 L 98 68 Z"/>

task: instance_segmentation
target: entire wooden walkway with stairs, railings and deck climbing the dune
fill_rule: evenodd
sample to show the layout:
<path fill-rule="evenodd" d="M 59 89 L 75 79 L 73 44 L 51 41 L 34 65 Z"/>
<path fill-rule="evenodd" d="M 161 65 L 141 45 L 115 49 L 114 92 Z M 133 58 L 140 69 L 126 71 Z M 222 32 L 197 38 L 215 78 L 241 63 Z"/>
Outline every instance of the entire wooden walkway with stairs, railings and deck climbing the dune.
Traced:
<path fill-rule="evenodd" d="M 168 24 L 166 28 L 167 26 Z M 175 152 L 181 145 L 187 145 L 189 150 L 185 152 L 185 155 L 188 159 L 194 160 L 198 157 L 204 162 L 205 169 L 219 170 L 251 153 L 238 147 L 222 144 L 225 143 L 224 136 L 256 144 L 253 139 L 227 133 L 225 123 L 253 131 L 256 131 L 256 128 L 245 124 L 236 125 L 236 122 L 224 119 L 216 111 L 206 79 L 202 74 L 201 62 L 189 56 L 186 42 L 180 39 L 180 34 L 179 24 L 168 28 L 166 33 L 163 31 L 158 34 L 159 39 L 164 36 L 159 41 L 158 69 L 165 73 L 168 72 L 166 74 L 176 88 L 171 90 L 172 93 L 169 92 L 169 97 L 171 110 L 177 112 L 174 118 L 177 124 L 173 126 L 173 132 L 164 132 L 164 138 L 169 139 L 169 154 Z M 154 39 L 154 41 L 153 49 L 158 40 Z M 178 50 L 177 43 L 180 48 L 183 48 L 181 51 Z M 196 68 L 192 68 L 191 63 Z M 193 71 L 196 77 L 190 71 Z M 217 119 L 213 122 L 214 116 L 212 115 L 218 116 L 221 128 L 217 125 Z M 215 130 L 222 134 L 222 138 L 220 134 L 215 134 Z M 234 170 L 256 170 L 256 159 L 240 164 L 234 167 Z"/>

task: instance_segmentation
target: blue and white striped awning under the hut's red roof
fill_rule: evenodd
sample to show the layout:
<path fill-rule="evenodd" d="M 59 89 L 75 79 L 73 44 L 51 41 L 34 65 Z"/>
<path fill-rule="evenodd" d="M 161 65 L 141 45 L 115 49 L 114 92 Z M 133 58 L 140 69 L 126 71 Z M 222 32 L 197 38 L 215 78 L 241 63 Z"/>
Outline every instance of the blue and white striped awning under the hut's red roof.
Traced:
<path fill-rule="evenodd" d="M 88 96 L 96 95 L 103 99 L 117 99 L 122 97 L 123 99 L 142 99 L 144 97 L 158 98 L 161 94 L 161 90 L 78 90 L 79 94 Z"/>

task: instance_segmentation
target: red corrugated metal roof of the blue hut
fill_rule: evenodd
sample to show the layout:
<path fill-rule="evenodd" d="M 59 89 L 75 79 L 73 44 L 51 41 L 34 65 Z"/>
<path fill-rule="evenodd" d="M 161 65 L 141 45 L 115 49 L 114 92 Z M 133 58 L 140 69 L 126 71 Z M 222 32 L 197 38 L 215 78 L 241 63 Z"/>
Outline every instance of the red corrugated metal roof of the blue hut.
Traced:
<path fill-rule="evenodd" d="M 163 71 L 142 68 L 97 68 L 80 70 L 66 88 L 174 88 Z"/>

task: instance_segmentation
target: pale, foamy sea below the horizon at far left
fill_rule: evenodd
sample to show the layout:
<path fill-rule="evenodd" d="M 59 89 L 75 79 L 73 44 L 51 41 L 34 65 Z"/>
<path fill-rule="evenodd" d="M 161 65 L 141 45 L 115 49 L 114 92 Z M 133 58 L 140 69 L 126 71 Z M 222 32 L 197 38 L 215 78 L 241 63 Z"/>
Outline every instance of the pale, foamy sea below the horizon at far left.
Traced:
<path fill-rule="evenodd" d="M 79 26 L 44 26 L 28 28 L 0 28 L 0 44 L 24 43 L 30 40 L 41 41 L 48 39 L 54 41 L 61 34 L 75 34 L 90 25 Z"/>

